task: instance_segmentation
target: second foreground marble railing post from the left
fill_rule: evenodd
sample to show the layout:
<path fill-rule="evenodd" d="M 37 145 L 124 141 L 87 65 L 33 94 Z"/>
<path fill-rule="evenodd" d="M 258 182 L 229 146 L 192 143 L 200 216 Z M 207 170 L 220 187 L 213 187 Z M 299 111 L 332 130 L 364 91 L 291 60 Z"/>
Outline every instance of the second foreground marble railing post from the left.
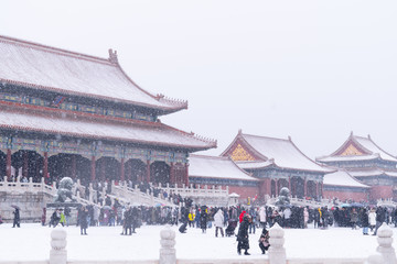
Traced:
<path fill-rule="evenodd" d="M 176 251 L 175 245 L 175 232 L 170 228 L 161 230 L 160 232 L 160 260 L 159 264 L 175 264 L 176 263 Z"/>

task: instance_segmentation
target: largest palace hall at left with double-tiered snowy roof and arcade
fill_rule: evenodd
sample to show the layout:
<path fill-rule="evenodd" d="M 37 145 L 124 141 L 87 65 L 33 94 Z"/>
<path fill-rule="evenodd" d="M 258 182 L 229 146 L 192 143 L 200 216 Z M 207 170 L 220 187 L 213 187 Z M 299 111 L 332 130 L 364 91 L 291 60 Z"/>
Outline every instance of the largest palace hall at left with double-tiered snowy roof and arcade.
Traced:
<path fill-rule="evenodd" d="M 190 153 L 216 147 L 160 122 L 187 102 L 153 96 L 108 58 L 0 36 L 0 176 L 47 183 L 189 184 Z"/>

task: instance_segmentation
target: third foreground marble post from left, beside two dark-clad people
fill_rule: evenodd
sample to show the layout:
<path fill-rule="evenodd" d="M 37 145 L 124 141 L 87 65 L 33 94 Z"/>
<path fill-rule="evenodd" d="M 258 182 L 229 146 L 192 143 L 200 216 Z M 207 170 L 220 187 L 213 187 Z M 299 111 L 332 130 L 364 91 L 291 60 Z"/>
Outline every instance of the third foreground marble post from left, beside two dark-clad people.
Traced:
<path fill-rule="evenodd" d="M 283 248 L 285 243 L 285 231 L 278 223 L 269 230 L 270 235 L 270 244 L 269 248 L 269 264 L 286 264 L 287 263 L 287 255 L 286 249 Z"/>

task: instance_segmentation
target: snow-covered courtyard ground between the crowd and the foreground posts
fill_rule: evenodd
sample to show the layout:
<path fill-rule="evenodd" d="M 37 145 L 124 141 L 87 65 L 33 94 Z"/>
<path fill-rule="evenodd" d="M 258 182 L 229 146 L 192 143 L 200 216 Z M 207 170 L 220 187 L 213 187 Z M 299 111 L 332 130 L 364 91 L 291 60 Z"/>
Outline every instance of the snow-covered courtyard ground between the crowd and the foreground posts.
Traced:
<path fill-rule="evenodd" d="M 160 231 L 165 227 L 143 226 L 132 235 L 120 235 L 120 227 L 96 227 L 81 235 L 79 228 L 67 231 L 67 256 L 71 261 L 158 260 Z M 260 231 L 250 234 L 250 256 L 237 255 L 235 238 L 215 238 L 215 229 L 205 234 L 191 228 L 182 234 L 176 227 L 176 257 L 187 260 L 262 258 L 258 246 Z M 44 261 L 50 256 L 50 234 L 53 229 L 39 223 L 22 223 L 21 228 L 0 226 L 0 261 Z M 394 238 L 397 229 L 393 228 Z M 375 253 L 376 237 L 363 235 L 362 230 L 347 228 L 286 229 L 287 257 L 352 257 L 363 258 Z M 221 237 L 221 235 L 219 235 Z M 396 244 L 394 242 L 396 249 Z"/>

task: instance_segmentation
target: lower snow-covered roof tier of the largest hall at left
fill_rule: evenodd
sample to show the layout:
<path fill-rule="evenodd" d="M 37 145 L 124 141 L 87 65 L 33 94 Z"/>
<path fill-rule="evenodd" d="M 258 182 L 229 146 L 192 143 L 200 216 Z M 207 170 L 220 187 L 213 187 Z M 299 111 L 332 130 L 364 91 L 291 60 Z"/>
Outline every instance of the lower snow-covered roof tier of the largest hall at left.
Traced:
<path fill-rule="evenodd" d="M 25 106 L 25 108 L 29 108 Z M 100 118 L 76 118 L 64 111 L 34 112 L 31 109 L 10 108 L 0 103 L 0 128 L 85 139 L 101 139 L 175 146 L 194 151 L 216 146 L 215 141 L 198 139 L 159 122 L 117 121 Z"/>

